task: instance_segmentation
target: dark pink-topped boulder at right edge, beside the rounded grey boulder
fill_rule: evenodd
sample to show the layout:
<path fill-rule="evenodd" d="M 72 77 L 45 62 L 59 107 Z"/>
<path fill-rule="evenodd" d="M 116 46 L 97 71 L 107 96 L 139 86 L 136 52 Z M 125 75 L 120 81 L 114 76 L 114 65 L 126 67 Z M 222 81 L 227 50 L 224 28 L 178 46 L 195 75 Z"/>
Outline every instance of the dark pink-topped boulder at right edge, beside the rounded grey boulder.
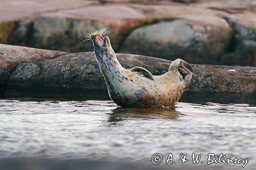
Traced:
<path fill-rule="evenodd" d="M 231 14 L 226 20 L 233 28 L 233 51 L 221 57 L 221 64 L 256 66 L 256 14 Z"/>

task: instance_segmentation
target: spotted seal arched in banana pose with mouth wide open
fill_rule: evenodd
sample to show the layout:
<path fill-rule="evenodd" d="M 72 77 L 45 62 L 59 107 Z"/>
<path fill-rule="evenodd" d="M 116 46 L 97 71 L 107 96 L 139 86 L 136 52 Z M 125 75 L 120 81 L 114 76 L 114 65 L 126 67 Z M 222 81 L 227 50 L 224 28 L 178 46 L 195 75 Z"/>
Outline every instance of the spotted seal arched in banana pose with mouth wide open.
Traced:
<path fill-rule="evenodd" d="M 94 55 L 105 79 L 110 98 L 123 107 L 174 106 L 189 86 L 194 69 L 182 59 L 173 61 L 168 71 L 153 76 L 145 68 L 136 66 L 125 69 L 116 58 L 105 29 L 91 32 Z"/>

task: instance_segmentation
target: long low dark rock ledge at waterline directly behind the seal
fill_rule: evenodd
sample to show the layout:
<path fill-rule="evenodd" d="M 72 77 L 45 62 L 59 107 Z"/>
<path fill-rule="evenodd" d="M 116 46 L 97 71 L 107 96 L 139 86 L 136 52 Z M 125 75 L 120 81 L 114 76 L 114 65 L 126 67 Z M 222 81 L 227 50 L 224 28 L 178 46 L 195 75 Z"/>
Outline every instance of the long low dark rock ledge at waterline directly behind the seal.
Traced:
<path fill-rule="evenodd" d="M 65 53 L 0 44 L 1 96 L 108 98 L 92 52 Z M 167 71 L 171 61 L 117 54 L 125 68 L 142 66 L 153 75 Z M 193 81 L 181 101 L 256 103 L 256 67 L 192 64 Z"/>

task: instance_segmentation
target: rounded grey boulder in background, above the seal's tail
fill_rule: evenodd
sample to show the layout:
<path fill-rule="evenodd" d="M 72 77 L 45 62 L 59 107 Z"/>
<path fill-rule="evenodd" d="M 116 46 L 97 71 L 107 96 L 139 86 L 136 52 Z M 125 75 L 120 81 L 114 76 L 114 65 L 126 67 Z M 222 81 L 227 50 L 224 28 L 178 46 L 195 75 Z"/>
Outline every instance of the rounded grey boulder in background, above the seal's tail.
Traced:
<path fill-rule="evenodd" d="M 230 37 L 231 29 L 225 20 L 187 17 L 134 30 L 124 40 L 119 52 L 216 64 L 229 45 Z"/>

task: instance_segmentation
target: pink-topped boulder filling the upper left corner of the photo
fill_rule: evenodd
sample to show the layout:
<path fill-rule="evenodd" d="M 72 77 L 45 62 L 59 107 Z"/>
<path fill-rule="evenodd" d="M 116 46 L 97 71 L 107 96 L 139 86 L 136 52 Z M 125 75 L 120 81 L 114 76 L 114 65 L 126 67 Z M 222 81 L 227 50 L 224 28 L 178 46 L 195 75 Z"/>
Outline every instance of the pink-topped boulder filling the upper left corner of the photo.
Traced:
<path fill-rule="evenodd" d="M 28 45 L 27 41 L 32 31 L 33 20 L 41 13 L 81 8 L 99 3 L 80 0 L 45 0 L 43 2 L 0 0 L 0 4 L 0 43 Z"/>

